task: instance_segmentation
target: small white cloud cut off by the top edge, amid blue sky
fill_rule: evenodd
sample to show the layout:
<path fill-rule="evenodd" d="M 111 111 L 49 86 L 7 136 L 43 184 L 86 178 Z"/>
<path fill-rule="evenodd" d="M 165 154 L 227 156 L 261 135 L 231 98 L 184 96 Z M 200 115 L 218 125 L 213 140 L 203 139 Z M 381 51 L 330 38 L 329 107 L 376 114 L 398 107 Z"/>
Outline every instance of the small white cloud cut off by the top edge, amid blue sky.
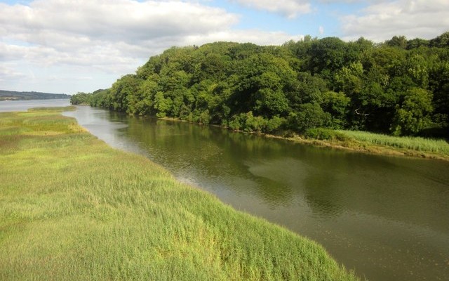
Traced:
<path fill-rule="evenodd" d="M 241 5 L 258 10 L 280 13 L 287 18 L 295 18 L 298 14 L 310 13 L 311 7 L 308 0 L 231 0 Z"/>

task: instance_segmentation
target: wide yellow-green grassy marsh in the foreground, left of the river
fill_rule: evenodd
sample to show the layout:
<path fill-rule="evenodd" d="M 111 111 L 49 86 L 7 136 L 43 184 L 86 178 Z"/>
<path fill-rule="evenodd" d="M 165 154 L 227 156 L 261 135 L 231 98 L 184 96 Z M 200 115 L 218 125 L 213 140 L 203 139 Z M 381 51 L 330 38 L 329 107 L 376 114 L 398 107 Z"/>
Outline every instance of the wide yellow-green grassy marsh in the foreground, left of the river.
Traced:
<path fill-rule="evenodd" d="M 0 170 L 0 280 L 356 280 L 56 110 L 0 113 Z"/>

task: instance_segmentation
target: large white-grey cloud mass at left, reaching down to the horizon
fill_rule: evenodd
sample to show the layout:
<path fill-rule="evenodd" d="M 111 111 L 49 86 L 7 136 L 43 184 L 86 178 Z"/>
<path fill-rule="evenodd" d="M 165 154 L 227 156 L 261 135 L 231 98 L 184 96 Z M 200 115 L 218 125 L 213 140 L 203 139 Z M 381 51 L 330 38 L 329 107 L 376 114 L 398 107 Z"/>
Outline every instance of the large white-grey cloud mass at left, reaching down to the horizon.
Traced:
<path fill-rule="evenodd" d="M 210 41 L 282 44 L 297 38 L 284 32 L 234 30 L 239 15 L 206 4 L 182 0 L 0 3 L 0 64 L 11 63 L 1 70 L 0 89 L 11 87 L 5 77 L 25 77 L 15 84 L 22 87 L 31 85 L 29 81 L 39 84 L 36 77 L 50 77 L 39 89 L 17 90 L 46 91 L 47 86 L 57 92 L 93 91 L 88 87 L 98 86 L 98 79 L 104 80 L 100 87 L 108 87 L 170 46 Z M 65 89 L 67 77 L 79 81 L 72 88 L 83 81 L 83 89 Z"/>

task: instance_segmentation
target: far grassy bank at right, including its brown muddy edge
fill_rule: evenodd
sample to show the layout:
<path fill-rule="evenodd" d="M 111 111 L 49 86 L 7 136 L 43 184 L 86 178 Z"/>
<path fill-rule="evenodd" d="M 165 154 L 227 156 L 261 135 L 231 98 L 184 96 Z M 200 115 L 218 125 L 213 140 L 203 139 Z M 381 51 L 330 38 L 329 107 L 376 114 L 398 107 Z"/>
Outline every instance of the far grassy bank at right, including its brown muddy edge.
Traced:
<path fill-rule="evenodd" d="M 309 129 L 288 138 L 299 143 L 369 152 L 381 155 L 424 157 L 449 161 L 449 143 L 443 139 L 395 137 L 365 131 Z"/>

